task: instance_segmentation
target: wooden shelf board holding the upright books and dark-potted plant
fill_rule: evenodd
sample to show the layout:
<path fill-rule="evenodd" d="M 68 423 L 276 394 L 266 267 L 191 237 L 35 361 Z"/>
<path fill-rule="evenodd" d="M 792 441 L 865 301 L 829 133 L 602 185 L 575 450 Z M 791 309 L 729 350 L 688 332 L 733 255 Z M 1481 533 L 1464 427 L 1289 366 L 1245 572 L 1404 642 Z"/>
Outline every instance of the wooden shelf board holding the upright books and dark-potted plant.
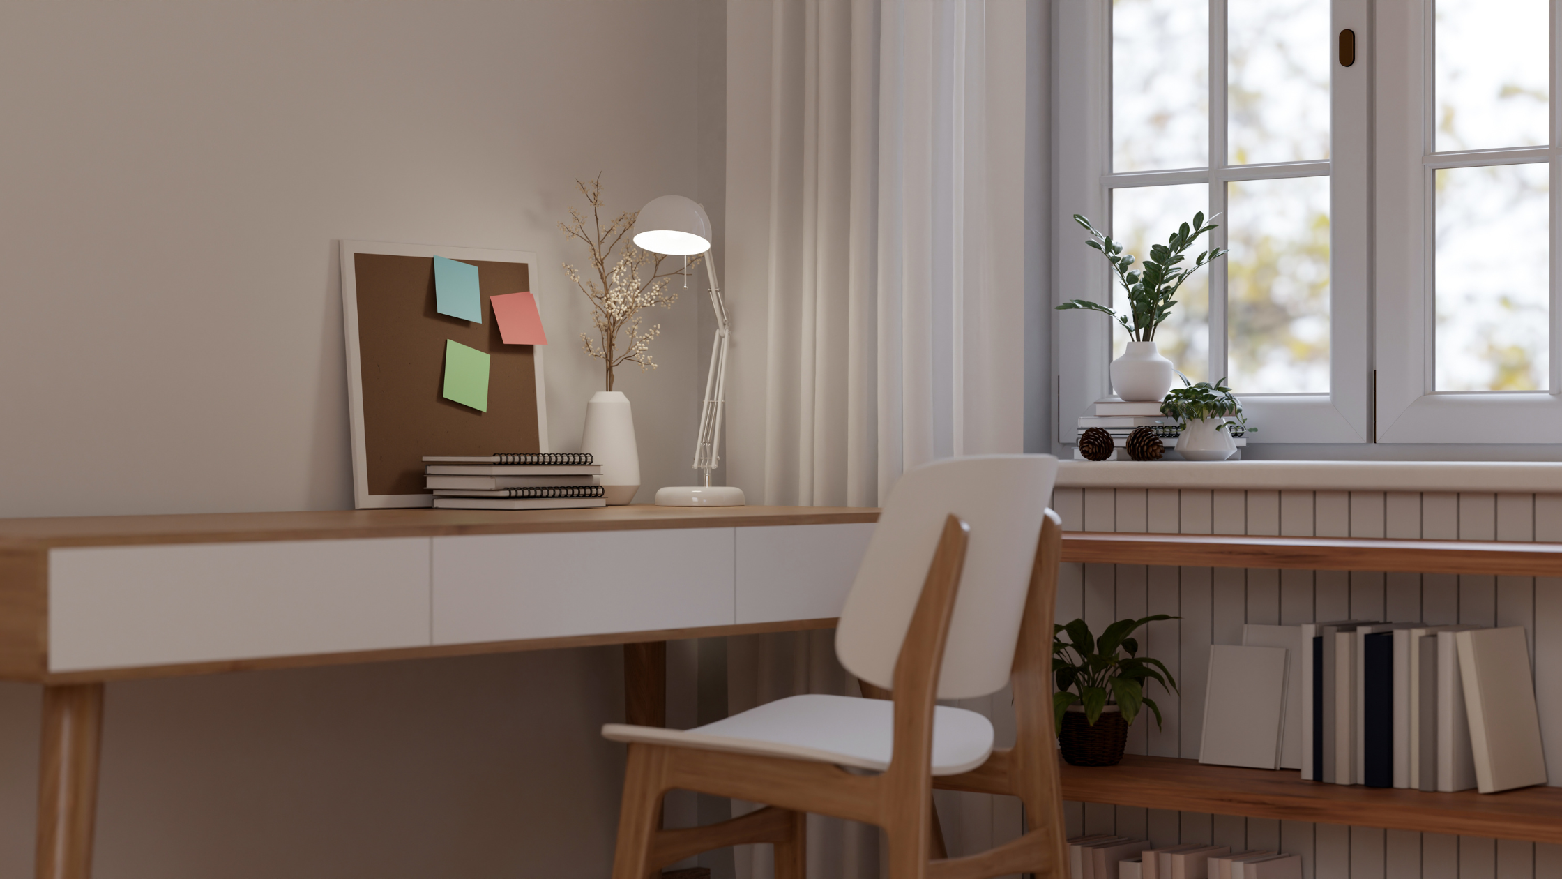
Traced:
<path fill-rule="evenodd" d="M 1562 788 L 1554 787 L 1423 793 L 1132 754 L 1117 766 L 1062 763 L 1062 787 L 1064 799 L 1076 802 L 1562 843 Z"/>

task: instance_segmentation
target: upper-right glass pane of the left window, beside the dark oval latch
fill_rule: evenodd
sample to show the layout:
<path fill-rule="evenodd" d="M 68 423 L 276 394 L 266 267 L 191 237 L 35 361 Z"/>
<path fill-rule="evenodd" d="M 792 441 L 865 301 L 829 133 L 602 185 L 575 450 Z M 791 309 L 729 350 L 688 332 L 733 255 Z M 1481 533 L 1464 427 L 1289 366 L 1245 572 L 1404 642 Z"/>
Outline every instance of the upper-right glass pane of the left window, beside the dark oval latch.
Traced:
<path fill-rule="evenodd" d="M 1231 164 L 1329 158 L 1328 0 L 1231 0 Z"/>

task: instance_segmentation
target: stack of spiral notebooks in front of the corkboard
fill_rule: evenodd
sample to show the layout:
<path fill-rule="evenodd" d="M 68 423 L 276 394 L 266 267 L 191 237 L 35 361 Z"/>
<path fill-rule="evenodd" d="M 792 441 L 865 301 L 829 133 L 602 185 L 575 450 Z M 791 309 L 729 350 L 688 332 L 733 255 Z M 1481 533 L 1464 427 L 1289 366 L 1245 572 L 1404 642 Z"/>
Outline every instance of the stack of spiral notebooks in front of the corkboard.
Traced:
<path fill-rule="evenodd" d="M 584 452 L 423 455 L 436 510 L 575 510 L 606 507 L 601 465 Z"/>

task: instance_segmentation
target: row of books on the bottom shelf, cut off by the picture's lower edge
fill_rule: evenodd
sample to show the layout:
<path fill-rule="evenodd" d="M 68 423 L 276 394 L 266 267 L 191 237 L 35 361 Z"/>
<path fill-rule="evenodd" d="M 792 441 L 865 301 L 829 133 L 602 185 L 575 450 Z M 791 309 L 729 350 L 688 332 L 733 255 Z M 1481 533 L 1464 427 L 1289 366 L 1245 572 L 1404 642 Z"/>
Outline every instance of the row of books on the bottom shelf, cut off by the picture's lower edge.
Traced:
<path fill-rule="evenodd" d="M 1301 879 L 1301 857 L 1186 843 L 1092 835 L 1068 840 L 1068 879 Z"/>

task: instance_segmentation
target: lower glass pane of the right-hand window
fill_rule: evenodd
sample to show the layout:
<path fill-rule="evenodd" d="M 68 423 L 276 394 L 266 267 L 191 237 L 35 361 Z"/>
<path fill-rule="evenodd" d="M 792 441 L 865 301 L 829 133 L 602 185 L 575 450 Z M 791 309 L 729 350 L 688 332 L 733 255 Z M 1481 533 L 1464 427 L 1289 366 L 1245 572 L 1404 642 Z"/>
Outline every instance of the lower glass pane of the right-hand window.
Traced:
<path fill-rule="evenodd" d="M 1435 389 L 1546 389 L 1550 166 L 1450 167 L 1435 185 Z"/>

